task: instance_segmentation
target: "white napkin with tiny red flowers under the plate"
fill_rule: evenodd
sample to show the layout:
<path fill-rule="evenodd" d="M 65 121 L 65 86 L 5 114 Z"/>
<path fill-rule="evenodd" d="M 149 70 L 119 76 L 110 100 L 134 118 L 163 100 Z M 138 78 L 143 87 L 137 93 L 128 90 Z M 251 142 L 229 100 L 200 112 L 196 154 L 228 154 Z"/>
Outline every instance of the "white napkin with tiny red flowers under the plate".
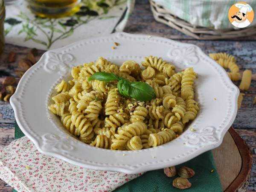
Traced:
<path fill-rule="evenodd" d="M 0 147 L 0 178 L 19 192 L 110 192 L 140 175 L 74 166 L 39 153 L 27 137 Z"/>

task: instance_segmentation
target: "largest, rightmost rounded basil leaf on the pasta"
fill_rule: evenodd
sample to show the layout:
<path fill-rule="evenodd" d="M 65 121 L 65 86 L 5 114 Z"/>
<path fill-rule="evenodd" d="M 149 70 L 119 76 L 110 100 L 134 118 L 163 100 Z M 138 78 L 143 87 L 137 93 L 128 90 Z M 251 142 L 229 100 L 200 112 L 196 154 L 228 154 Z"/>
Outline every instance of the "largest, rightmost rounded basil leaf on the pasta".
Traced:
<path fill-rule="evenodd" d="M 128 94 L 137 101 L 150 101 L 156 97 L 154 89 L 150 85 L 140 81 L 129 84 Z"/>

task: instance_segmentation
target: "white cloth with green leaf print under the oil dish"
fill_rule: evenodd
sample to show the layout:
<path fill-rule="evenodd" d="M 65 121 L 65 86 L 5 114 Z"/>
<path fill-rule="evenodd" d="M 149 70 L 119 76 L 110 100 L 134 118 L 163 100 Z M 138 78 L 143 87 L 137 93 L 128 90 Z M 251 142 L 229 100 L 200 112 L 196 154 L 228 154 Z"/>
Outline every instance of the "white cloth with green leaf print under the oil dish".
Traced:
<path fill-rule="evenodd" d="M 135 0 L 82 0 L 79 12 L 72 17 L 49 19 L 36 17 L 28 9 L 26 1 L 22 0 L 6 6 L 5 41 L 47 50 L 84 38 L 107 35 L 114 29 L 122 31 L 134 2 Z M 120 21 L 123 14 L 125 16 Z"/>

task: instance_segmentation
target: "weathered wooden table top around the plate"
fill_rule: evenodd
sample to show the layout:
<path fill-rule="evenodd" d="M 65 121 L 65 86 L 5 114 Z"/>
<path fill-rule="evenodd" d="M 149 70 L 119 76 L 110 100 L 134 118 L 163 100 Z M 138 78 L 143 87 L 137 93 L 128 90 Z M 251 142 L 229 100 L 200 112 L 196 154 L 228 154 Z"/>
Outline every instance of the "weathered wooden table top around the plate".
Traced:
<path fill-rule="evenodd" d="M 134 12 L 132 13 L 125 32 L 136 34 L 157 35 L 165 38 L 174 39 L 183 43 L 195 44 L 205 53 L 226 52 L 236 56 L 237 64 L 240 70 L 251 69 L 256 73 L 256 36 L 244 37 L 233 40 L 221 41 L 199 41 L 195 40 L 175 29 L 170 28 L 162 23 L 157 23 L 151 13 L 147 0 L 136 2 Z M 0 77 L 11 75 L 15 76 L 14 68 L 17 62 L 9 65 L 7 55 L 10 51 L 18 54 L 23 58 L 29 49 L 6 44 L 3 55 L 0 57 Z M 40 55 L 44 51 L 39 51 Z M 235 82 L 239 85 L 239 82 Z M 256 81 L 252 81 L 250 89 L 245 93 L 244 100 L 239 109 L 233 127 L 245 140 L 253 153 L 253 168 L 251 179 L 247 188 L 248 192 L 256 191 L 256 105 L 253 105 L 254 96 L 256 96 Z M 9 103 L 0 101 L 0 145 L 8 145 L 14 140 L 15 116 Z M 232 163 L 232 162 L 231 162 Z M 12 188 L 0 180 L 0 191 L 11 192 Z"/>

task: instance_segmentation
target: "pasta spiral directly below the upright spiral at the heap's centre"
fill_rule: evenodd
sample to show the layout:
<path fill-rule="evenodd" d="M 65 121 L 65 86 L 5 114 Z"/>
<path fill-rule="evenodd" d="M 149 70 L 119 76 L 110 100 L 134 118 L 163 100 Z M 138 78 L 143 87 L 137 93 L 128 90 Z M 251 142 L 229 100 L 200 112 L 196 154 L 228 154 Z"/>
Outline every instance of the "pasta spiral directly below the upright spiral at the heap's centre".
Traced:
<path fill-rule="evenodd" d="M 105 126 L 108 128 L 118 128 L 125 124 L 128 120 L 128 115 L 126 113 L 115 113 L 105 118 Z"/>

